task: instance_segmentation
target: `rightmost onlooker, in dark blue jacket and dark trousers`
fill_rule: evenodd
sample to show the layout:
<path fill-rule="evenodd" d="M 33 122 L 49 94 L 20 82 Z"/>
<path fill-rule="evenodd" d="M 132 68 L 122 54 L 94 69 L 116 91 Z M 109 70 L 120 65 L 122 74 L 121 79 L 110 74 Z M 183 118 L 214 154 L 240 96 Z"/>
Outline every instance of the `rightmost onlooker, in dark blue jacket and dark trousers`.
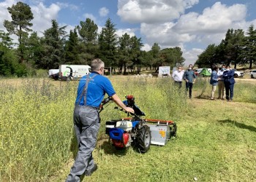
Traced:
<path fill-rule="evenodd" d="M 234 79 L 235 72 L 233 69 L 230 69 L 230 66 L 226 66 L 226 70 L 223 72 L 223 79 L 226 90 L 226 99 L 227 101 L 233 100 L 234 95 L 234 84 L 236 83 Z"/>

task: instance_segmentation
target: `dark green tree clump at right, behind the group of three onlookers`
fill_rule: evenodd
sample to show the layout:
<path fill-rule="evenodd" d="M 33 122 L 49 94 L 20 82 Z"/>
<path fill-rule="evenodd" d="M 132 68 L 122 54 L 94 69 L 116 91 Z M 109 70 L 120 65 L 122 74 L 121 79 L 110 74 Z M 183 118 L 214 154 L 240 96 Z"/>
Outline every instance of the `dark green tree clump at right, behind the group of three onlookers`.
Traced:
<path fill-rule="evenodd" d="M 250 25 L 246 33 L 243 30 L 228 29 L 225 39 L 219 45 L 210 44 L 200 55 L 195 64 L 199 68 L 213 68 L 218 64 L 236 68 L 237 65 L 256 63 L 256 30 Z"/>

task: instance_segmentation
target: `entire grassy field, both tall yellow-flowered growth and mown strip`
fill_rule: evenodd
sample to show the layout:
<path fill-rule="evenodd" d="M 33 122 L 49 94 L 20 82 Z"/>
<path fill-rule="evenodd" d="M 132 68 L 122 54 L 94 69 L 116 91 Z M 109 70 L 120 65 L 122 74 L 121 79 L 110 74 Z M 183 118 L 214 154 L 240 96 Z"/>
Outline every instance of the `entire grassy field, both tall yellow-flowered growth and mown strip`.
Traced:
<path fill-rule="evenodd" d="M 177 137 L 146 154 L 116 151 L 105 121 L 125 115 L 112 103 L 101 113 L 94 150 L 99 168 L 83 181 L 256 181 L 256 79 L 236 79 L 231 103 L 209 100 L 207 79 L 197 79 L 191 100 L 170 79 L 110 79 L 120 98 L 135 95 L 146 118 L 175 121 Z M 72 109 L 78 82 L 0 82 L 0 181 L 64 181 L 77 151 Z"/>

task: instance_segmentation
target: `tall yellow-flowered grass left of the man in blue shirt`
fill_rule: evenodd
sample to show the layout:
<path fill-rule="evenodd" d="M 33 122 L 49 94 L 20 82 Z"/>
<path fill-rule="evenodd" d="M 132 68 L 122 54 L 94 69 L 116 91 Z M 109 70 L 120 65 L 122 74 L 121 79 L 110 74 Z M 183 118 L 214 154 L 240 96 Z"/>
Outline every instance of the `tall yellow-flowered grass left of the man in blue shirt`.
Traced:
<path fill-rule="evenodd" d="M 69 159 L 75 87 L 1 82 L 1 181 L 45 181 Z"/>

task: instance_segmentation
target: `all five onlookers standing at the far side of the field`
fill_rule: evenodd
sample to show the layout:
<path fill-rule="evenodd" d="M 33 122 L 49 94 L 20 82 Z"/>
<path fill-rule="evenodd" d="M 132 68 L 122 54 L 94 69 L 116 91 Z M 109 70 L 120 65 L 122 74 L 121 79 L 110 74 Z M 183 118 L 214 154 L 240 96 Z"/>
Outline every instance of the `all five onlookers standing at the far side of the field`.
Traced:
<path fill-rule="evenodd" d="M 195 75 L 195 71 L 192 70 L 192 64 L 189 65 L 189 68 L 186 71 L 179 66 L 178 70 L 173 71 L 172 77 L 179 89 L 181 89 L 182 81 L 186 81 L 186 91 L 189 91 L 189 98 L 192 98 L 192 87 L 197 77 Z M 211 100 L 214 100 L 214 93 L 218 86 L 218 99 L 227 99 L 227 101 L 232 101 L 235 83 L 234 71 L 233 69 L 230 69 L 230 66 L 223 65 L 221 69 L 214 67 L 210 79 L 210 84 L 212 85 Z"/>

